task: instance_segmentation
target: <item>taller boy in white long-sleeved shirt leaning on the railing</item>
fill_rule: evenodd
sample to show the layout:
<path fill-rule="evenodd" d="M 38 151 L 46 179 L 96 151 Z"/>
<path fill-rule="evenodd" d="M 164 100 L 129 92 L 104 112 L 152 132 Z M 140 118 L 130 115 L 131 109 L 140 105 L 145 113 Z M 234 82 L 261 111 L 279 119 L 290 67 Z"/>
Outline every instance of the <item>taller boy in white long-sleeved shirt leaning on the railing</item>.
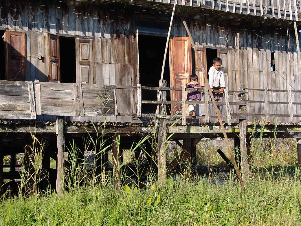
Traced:
<path fill-rule="evenodd" d="M 209 69 L 209 86 L 211 91 L 213 89 L 219 89 L 219 93 L 213 93 L 214 100 L 216 102 L 224 102 L 224 89 L 225 89 L 225 79 L 224 79 L 224 70 L 222 69 L 222 59 L 217 57 L 213 59 L 213 66 Z M 222 115 L 222 105 L 217 103 L 217 108 L 219 113 Z M 218 119 L 217 121 L 218 122 Z M 223 120 L 223 124 L 224 120 Z"/>

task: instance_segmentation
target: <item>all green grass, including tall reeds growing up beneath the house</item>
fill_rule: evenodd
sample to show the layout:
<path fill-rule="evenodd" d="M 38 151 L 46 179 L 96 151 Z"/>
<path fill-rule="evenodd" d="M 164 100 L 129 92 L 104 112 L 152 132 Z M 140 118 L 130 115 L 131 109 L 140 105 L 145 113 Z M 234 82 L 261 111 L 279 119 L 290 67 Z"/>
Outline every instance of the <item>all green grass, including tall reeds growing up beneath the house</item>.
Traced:
<path fill-rule="evenodd" d="M 96 159 L 109 150 L 110 145 L 105 138 L 105 125 L 95 130 L 98 131 L 96 137 L 88 135 L 84 140 L 85 151 L 96 153 L 94 162 L 88 167 L 87 159 L 76 160 L 79 147 L 75 142 L 66 146 L 70 167 L 65 171 L 63 196 L 58 198 L 50 190 L 33 190 L 33 195 L 26 196 L 23 189 L 15 197 L 4 195 L 0 202 L 0 225 L 301 224 L 301 184 L 294 140 L 277 140 L 276 136 L 257 139 L 253 134 L 252 175 L 244 187 L 235 182 L 231 172 L 210 176 L 192 174 L 188 162 L 173 179 L 168 178 L 166 184 L 158 185 L 156 167 L 147 171 L 146 180 L 141 178 L 146 157 L 151 155 L 148 157 L 153 161 L 157 158 L 155 153 L 146 152 L 145 145 L 148 142 L 151 152 L 156 152 L 155 131 L 133 143 L 119 168 L 124 168 L 125 164 L 133 167 L 129 172 L 122 172 L 120 178 L 114 178 L 105 168 L 100 174 L 96 171 Z M 120 137 L 113 139 L 119 148 Z M 35 144 L 33 153 L 40 153 L 44 143 Z M 135 159 L 132 156 L 137 151 L 140 157 Z M 111 161 L 116 159 L 112 157 Z M 210 140 L 197 146 L 197 162 L 225 166 Z M 113 187 L 115 180 L 123 182 L 117 190 Z"/>

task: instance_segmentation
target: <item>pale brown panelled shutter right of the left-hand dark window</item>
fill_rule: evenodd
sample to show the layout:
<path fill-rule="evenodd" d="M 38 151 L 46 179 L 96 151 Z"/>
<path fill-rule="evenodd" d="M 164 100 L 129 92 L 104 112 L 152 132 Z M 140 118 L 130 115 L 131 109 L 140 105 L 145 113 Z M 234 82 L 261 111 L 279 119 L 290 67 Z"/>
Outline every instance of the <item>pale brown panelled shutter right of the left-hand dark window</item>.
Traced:
<path fill-rule="evenodd" d="M 76 42 L 76 82 L 94 83 L 93 40 L 75 39 Z"/>

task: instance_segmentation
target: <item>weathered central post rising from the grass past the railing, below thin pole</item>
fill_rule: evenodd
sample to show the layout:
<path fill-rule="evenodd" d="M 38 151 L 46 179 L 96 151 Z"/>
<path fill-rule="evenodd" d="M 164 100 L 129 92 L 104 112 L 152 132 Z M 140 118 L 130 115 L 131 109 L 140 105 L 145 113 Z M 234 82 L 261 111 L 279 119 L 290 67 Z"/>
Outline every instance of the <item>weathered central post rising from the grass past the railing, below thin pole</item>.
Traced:
<path fill-rule="evenodd" d="M 164 82 L 162 85 L 166 87 L 166 80 L 163 80 Z M 166 101 L 166 91 L 162 92 L 162 101 Z M 160 106 L 160 114 L 163 115 L 164 112 L 166 112 L 166 105 L 163 104 L 163 106 Z M 158 150 L 157 150 L 157 156 L 158 156 L 158 183 L 163 184 L 165 183 L 166 179 L 166 119 L 161 118 L 160 122 L 158 124 L 159 126 L 159 132 L 158 132 Z"/>

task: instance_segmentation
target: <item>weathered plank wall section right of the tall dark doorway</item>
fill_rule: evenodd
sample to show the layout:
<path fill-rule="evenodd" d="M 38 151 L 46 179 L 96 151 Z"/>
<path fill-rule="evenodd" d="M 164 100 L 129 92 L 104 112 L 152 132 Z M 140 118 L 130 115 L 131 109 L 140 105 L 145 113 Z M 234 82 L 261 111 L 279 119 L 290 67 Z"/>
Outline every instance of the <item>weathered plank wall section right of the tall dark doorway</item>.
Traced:
<path fill-rule="evenodd" d="M 187 36 L 185 27 L 180 20 L 173 23 L 174 36 Z M 224 49 L 228 52 L 228 77 L 225 77 L 226 84 L 230 90 L 239 90 L 240 84 L 244 82 L 245 87 L 254 89 L 301 90 L 300 70 L 296 53 L 296 40 L 290 26 L 289 41 L 287 29 L 271 29 L 263 32 L 256 29 L 231 29 L 226 26 L 218 26 L 214 23 L 204 24 L 202 21 L 191 23 L 191 35 L 196 45 L 203 47 Z M 237 64 L 237 32 L 239 36 L 240 64 Z M 289 42 L 289 43 L 288 43 Z M 275 55 L 275 71 L 271 71 L 271 52 Z M 208 68 L 209 70 L 209 68 Z M 240 73 L 237 73 L 240 70 Z M 240 74 L 240 77 L 238 75 Z M 287 102 L 287 93 L 268 92 L 269 101 Z M 292 93 L 293 102 L 301 102 L 300 93 Z M 264 101 L 264 92 L 249 90 L 249 100 Z M 230 95 L 230 101 L 237 101 L 237 96 Z M 200 108 L 203 105 L 199 105 Z M 265 104 L 248 103 L 247 112 L 264 114 Z M 293 105 L 293 114 L 301 111 L 300 105 Z M 201 109 L 200 109 L 201 112 Z M 238 106 L 234 105 L 231 112 L 239 113 Z M 289 114 L 288 105 L 269 104 L 271 120 L 274 114 Z M 209 109 L 210 115 L 215 115 L 213 106 Z M 223 115 L 226 112 L 223 111 Z M 265 117 L 256 117 L 256 120 L 263 120 Z M 254 121 L 249 117 L 249 121 Z M 289 118 L 278 117 L 277 121 L 290 122 Z M 300 118 L 294 118 L 298 121 Z"/>

